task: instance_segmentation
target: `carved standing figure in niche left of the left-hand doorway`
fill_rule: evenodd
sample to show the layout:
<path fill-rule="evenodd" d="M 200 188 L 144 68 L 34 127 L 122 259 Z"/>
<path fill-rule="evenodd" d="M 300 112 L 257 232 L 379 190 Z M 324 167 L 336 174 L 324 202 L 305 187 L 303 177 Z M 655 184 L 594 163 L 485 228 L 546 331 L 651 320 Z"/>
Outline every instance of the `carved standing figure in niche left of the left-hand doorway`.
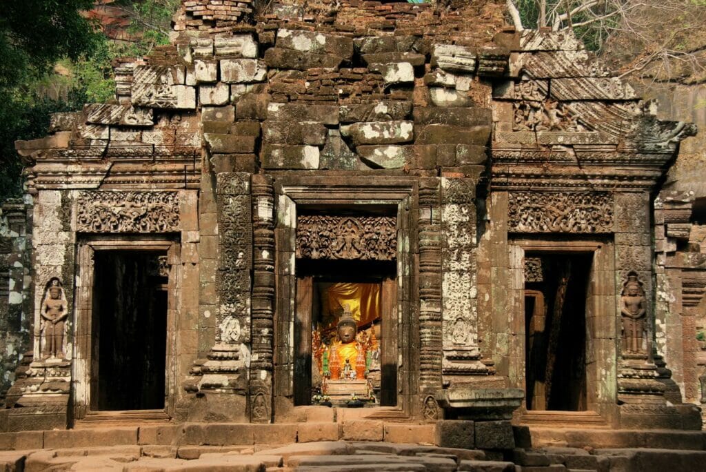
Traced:
<path fill-rule="evenodd" d="M 68 306 L 64 288 L 58 278 L 52 278 L 47 283 L 40 314 L 44 343 L 42 359 L 64 358 L 64 324 L 68 316 Z"/>

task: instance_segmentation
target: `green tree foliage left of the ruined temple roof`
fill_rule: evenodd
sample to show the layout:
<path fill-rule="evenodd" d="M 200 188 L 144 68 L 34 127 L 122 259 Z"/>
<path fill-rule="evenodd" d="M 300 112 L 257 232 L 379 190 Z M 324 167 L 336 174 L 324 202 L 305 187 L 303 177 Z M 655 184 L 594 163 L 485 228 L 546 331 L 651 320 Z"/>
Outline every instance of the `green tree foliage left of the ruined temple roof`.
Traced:
<path fill-rule="evenodd" d="M 86 13 L 114 4 L 127 13 L 113 40 Z M 49 115 L 114 97 L 112 61 L 142 57 L 169 41 L 179 0 L 5 0 L 0 8 L 0 202 L 22 191 L 17 139 L 48 133 Z M 57 73 L 60 69 L 61 73 Z M 48 93 L 48 90 L 53 90 Z M 56 90 L 60 90 L 56 92 Z"/>

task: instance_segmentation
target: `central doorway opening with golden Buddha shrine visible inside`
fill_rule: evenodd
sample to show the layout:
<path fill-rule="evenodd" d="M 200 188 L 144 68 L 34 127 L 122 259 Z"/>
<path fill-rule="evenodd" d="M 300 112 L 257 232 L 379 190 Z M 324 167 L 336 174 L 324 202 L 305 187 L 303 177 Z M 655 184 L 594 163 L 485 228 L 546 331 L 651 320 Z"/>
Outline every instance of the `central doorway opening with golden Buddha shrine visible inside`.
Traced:
<path fill-rule="evenodd" d="M 394 260 L 297 260 L 295 405 L 397 405 L 395 272 Z"/>

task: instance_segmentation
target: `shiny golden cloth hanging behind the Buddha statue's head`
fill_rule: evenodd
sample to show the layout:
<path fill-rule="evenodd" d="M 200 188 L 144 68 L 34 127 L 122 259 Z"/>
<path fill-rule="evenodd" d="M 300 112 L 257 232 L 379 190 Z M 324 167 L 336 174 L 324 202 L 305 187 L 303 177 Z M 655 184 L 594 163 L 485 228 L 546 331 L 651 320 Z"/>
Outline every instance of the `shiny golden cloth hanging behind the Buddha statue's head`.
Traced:
<path fill-rule="evenodd" d="M 328 312 L 336 320 L 348 305 L 358 326 L 365 326 L 380 317 L 379 283 L 334 283 L 328 288 Z"/>

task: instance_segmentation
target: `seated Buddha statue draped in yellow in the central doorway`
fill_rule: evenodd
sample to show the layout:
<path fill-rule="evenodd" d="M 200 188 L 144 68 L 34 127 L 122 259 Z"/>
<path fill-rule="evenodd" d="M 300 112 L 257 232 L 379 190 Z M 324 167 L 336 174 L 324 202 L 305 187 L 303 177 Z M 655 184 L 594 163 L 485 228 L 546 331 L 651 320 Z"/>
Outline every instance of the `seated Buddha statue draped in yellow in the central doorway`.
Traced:
<path fill-rule="evenodd" d="M 356 341 L 358 326 L 346 305 L 336 325 L 340 341 L 329 346 L 328 367 L 331 379 L 364 379 L 366 356 L 364 346 Z"/>

